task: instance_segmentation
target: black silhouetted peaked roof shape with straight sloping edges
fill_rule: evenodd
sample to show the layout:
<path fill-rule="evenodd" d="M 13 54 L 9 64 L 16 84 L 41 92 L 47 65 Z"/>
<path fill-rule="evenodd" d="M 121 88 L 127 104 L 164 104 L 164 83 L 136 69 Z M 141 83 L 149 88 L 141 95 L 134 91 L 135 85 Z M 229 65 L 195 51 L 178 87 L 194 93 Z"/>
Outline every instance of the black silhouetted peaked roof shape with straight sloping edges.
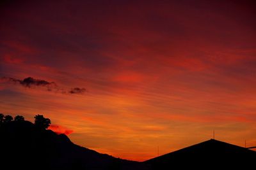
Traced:
<path fill-rule="evenodd" d="M 256 152 L 211 139 L 145 161 L 152 169 L 251 169 Z"/>

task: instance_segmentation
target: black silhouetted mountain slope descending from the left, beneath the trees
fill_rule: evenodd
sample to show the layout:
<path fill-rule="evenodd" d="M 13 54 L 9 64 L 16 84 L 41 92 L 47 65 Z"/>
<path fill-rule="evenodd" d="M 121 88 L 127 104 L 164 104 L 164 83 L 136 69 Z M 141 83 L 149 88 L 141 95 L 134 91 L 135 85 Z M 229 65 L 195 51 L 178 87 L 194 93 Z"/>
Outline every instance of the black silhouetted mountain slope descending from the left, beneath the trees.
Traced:
<path fill-rule="evenodd" d="M 75 145 L 65 134 L 28 121 L 0 127 L 0 169 L 145 169 L 141 162 L 116 159 Z"/>

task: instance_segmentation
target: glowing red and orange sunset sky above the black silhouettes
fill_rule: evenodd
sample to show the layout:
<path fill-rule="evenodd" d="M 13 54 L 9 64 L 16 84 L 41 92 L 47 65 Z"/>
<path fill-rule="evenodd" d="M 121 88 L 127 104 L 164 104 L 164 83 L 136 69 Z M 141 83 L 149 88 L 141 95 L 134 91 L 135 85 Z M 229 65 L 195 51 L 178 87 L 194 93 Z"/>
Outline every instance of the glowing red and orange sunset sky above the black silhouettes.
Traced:
<path fill-rule="evenodd" d="M 3 1 L 0 113 L 147 160 L 256 145 L 253 1 Z M 24 80 L 28 78 L 29 81 Z"/>

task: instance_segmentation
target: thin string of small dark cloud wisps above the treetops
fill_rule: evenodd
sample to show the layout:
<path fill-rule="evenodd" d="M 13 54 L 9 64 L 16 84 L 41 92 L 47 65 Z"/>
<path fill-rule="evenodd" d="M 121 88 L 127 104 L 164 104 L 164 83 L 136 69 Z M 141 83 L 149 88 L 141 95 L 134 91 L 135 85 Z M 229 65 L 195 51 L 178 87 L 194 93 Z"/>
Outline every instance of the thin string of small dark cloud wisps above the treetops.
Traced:
<path fill-rule="evenodd" d="M 84 92 L 86 92 L 86 89 L 79 87 L 74 87 L 70 90 L 65 90 L 59 87 L 54 81 L 49 82 L 46 80 L 36 79 L 32 77 L 24 78 L 23 80 L 19 80 L 12 77 L 2 77 L 1 80 L 22 85 L 26 88 L 45 87 L 48 91 L 61 92 L 62 94 L 84 94 Z"/>

